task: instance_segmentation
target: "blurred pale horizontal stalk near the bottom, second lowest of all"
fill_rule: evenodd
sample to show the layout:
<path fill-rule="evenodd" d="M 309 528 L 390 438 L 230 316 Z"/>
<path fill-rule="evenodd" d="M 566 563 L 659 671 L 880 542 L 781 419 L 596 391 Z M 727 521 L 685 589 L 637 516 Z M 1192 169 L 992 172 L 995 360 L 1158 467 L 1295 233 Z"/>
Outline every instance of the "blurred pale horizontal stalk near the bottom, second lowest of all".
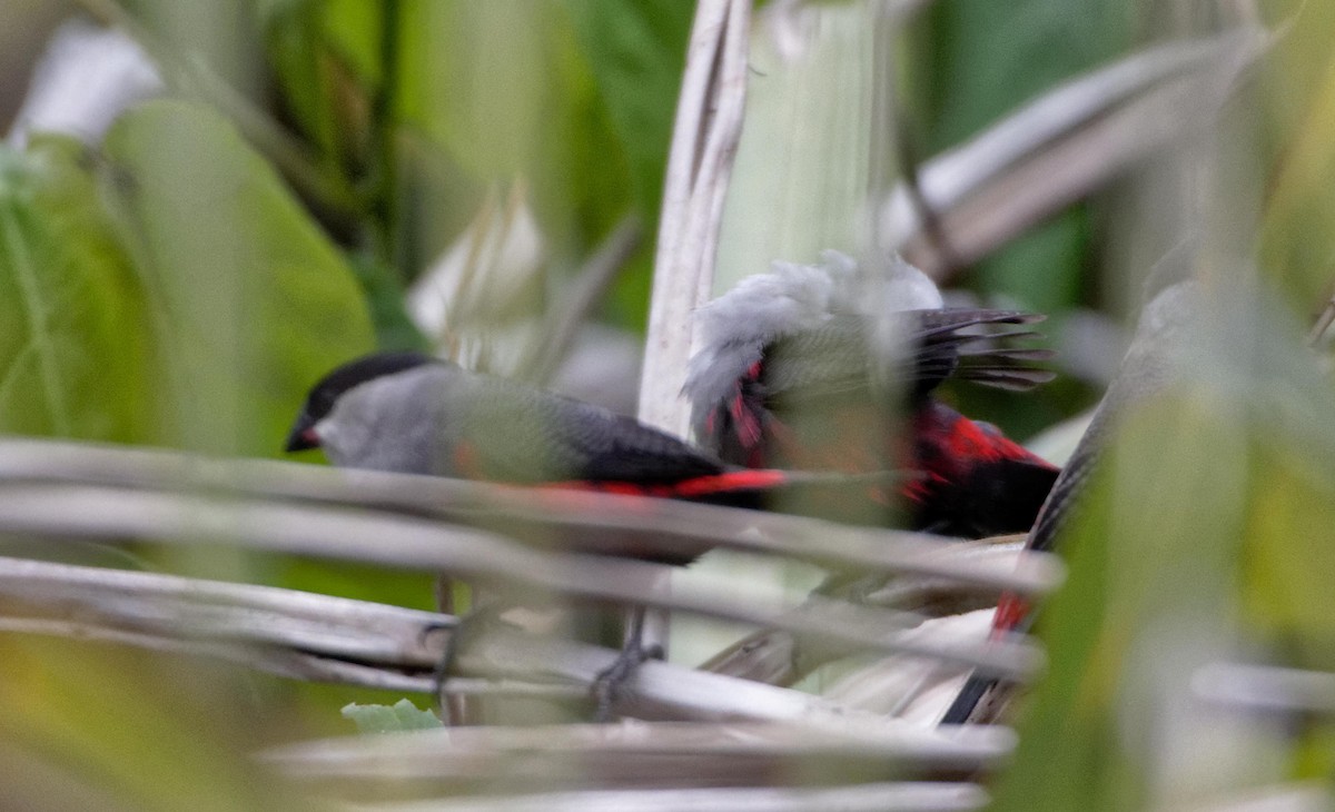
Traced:
<path fill-rule="evenodd" d="M 997 767 L 1015 745 L 1004 728 L 943 733 L 853 717 L 834 727 L 790 723 L 655 723 L 631 725 L 474 727 L 406 735 L 328 739 L 279 747 L 262 759 L 284 773 L 328 785 L 391 779 L 446 789 L 527 769 L 507 789 L 551 787 L 734 787 L 784 781 L 786 764 L 837 765 L 829 780 L 886 780 Z M 571 775 L 571 763 L 587 765 Z M 792 773 L 788 773 L 792 776 Z M 794 776 L 796 777 L 796 776 Z M 793 780 L 789 777 L 788 780 Z M 802 780 L 826 783 L 809 775 Z"/>

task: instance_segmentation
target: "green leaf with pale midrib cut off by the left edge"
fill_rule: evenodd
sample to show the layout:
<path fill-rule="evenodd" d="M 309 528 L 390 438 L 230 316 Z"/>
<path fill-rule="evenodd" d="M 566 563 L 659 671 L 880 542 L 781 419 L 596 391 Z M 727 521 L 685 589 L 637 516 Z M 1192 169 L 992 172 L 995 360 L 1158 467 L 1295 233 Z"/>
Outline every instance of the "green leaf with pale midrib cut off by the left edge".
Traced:
<path fill-rule="evenodd" d="M 0 430 L 147 439 L 143 291 L 79 144 L 0 148 Z"/>

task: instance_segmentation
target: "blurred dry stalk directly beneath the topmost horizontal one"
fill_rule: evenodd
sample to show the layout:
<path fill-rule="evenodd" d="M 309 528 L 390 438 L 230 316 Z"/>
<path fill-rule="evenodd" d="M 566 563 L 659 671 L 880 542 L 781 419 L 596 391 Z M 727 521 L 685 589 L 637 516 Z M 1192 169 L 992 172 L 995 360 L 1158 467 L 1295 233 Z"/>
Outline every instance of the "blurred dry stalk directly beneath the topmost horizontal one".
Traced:
<path fill-rule="evenodd" d="M 909 652 L 1023 677 L 1041 654 L 1028 644 L 987 648 L 913 641 L 917 618 L 841 601 L 808 601 L 802 616 L 772 617 L 722 582 L 646 589 L 661 565 L 601 556 L 543 553 L 497 533 L 366 510 L 275 505 L 113 487 L 12 485 L 0 501 L 0 532 L 47 538 L 150 540 L 230 544 L 299 556 L 449 572 L 498 586 L 521 586 L 521 601 L 542 594 L 626 605 L 682 609 L 710 617 L 776 625 L 798 634 L 884 652 Z"/>

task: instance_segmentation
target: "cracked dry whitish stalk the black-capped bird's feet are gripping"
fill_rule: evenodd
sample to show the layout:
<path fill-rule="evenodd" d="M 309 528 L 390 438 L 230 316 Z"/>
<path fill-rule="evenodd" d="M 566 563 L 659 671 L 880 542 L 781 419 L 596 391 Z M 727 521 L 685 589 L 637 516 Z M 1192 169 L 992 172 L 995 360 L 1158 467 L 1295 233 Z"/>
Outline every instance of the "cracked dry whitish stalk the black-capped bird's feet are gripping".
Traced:
<path fill-rule="evenodd" d="M 429 693 L 455 618 L 314 593 L 0 558 L 0 629 L 216 657 L 288 678 Z M 615 652 L 514 632 L 477 636 L 451 693 L 586 696 Z M 820 697 L 646 662 L 614 700 L 639 719 L 850 724 Z"/>

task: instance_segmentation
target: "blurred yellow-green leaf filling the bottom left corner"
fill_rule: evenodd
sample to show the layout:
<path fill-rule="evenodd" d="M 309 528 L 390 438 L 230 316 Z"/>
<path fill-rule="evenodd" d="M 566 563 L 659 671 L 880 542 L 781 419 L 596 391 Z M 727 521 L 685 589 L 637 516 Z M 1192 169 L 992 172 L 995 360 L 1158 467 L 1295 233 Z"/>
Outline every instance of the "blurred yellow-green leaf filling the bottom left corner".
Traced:
<path fill-rule="evenodd" d="M 303 808 L 298 793 L 246 755 L 295 731 L 291 717 L 243 698 L 255 696 L 255 684 L 242 688 L 242 677 L 219 662 L 5 634 L 0 638 L 5 805 L 15 808 L 15 799 L 33 793 L 37 805 L 17 808 Z M 19 764 L 23 768 L 13 769 Z M 51 793 L 67 792 L 83 795 L 83 803 L 48 801 Z"/>

